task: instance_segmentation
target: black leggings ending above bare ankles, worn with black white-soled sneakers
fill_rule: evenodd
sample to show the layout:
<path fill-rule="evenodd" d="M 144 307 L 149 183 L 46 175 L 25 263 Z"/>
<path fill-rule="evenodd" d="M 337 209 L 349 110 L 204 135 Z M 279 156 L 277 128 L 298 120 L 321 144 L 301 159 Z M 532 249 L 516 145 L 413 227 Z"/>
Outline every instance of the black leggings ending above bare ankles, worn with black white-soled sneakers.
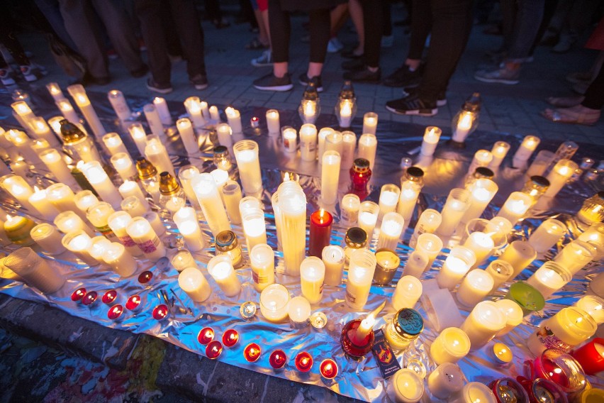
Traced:
<path fill-rule="evenodd" d="M 308 18 L 308 31 L 311 33 L 311 62 L 323 63 L 330 38 L 329 9 L 308 11 Z M 274 62 L 288 62 L 291 22 L 289 11 L 281 9 L 279 0 L 269 0 L 269 25 Z"/>

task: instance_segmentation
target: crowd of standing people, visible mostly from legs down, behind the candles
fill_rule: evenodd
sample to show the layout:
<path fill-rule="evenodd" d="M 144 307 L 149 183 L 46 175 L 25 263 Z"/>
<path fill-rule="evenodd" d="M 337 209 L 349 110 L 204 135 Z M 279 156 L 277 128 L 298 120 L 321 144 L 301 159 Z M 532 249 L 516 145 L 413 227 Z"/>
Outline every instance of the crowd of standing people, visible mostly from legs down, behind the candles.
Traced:
<path fill-rule="evenodd" d="M 11 0 L 12 1 L 12 0 Z M 298 81 L 323 91 L 327 53 L 341 53 L 342 76 L 352 82 L 401 87 L 401 97 L 386 102 L 395 114 L 433 116 L 447 103 L 447 87 L 474 23 L 488 21 L 493 9 L 500 23 L 487 28 L 502 35 L 500 48 L 488 53 L 492 67 L 476 71 L 481 82 L 518 84 L 522 68 L 534 60 L 537 45 L 564 53 L 589 36 L 586 48 L 599 50 L 589 72 L 569 72 L 572 96 L 552 97 L 543 116 L 564 123 L 594 124 L 604 106 L 603 0 L 401 0 L 407 10 L 408 54 L 401 67 L 383 77 L 381 48 L 393 46 L 391 7 L 395 0 L 240 0 L 240 20 L 257 37 L 246 46 L 262 53 L 252 59 L 272 72 L 253 85 L 264 91 L 289 91 L 291 15 L 308 15 L 308 69 Z M 199 3 L 199 4 L 198 4 Z M 199 9 L 216 28 L 229 22 L 219 0 L 26 0 L 18 2 L 35 29 L 42 31 L 57 62 L 83 84 L 108 84 L 108 59 L 115 53 L 133 77 L 147 77 L 147 88 L 172 91 L 172 62 L 186 61 L 196 89 L 208 87 Z M 345 48 L 338 33 L 352 21 L 357 44 Z M 599 23 L 598 23 L 599 21 Z M 29 60 L 15 36 L 9 12 L 0 13 L 0 80 L 35 81 L 45 70 Z M 595 26 L 595 29 L 593 28 Z M 591 35 L 590 35 L 590 31 Z M 111 52 L 108 53 L 108 49 Z M 141 50 L 147 51 L 147 63 Z M 11 67 L 15 65 L 15 68 Z M 525 67 L 526 68 L 526 67 Z"/>

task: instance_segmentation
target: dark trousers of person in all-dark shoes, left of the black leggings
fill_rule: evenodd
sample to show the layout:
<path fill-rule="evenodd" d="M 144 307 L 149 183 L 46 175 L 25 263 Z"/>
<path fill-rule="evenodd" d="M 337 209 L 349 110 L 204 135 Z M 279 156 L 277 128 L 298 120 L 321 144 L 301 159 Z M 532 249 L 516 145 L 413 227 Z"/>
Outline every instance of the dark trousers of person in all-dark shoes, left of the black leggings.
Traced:
<path fill-rule="evenodd" d="M 193 0 L 167 0 L 169 11 L 176 23 L 172 27 L 177 31 L 186 59 L 186 72 L 189 78 L 198 74 L 206 75 L 206 63 L 203 59 L 203 30 Z M 147 57 L 153 81 L 157 84 L 169 84 L 172 64 L 168 57 L 166 33 L 162 21 L 166 18 L 162 0 L 135 0 L 136 15 L 140 20 L 140 32 L 147 45 Z"/>

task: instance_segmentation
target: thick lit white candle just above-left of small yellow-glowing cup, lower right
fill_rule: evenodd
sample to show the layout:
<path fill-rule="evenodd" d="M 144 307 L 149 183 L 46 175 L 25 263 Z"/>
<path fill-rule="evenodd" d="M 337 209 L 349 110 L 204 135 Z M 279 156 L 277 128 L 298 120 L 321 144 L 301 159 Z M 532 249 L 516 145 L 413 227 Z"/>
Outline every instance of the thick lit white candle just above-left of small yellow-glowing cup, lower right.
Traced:
<path fill-rule="evenodd" d="M 483 301 L 476 304 L 460 329 L 468 335 L 471 350 L 478 350 L 505 327 L 506 321 L 495 302 Z"/>

